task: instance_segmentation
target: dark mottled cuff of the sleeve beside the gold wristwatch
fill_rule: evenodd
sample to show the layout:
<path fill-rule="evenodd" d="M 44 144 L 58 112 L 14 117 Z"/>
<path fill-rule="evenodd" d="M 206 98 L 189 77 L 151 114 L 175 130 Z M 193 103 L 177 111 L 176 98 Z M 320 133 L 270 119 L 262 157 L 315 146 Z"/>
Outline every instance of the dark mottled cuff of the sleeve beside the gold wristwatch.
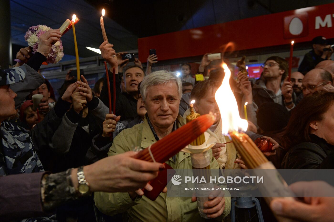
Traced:
<path fill-rule="evenodd" d="M 72 169 L 55 174 L 45 174 L 43 176 L 41 181 L 41 198 L 45 211 L 51 211 L 60 204 L 80 198 L 72 184 Z"/>

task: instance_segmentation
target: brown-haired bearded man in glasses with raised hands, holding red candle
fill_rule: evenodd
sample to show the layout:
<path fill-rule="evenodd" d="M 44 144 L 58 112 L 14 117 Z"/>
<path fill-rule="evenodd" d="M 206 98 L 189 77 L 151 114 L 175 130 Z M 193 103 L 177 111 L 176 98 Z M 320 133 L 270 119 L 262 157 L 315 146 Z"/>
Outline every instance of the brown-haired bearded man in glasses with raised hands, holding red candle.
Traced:
<path fill-rule="evenodd" d="M 255 112 L 261 104 L 275 102 L 285 106 L 289 111 L 295 106 L 296 99 L 291 82 L 283 82 L 288 76 L 288 63 L 285 59 L 271 56 L 262 67 L 264 70 L 261 78 L 255 82 L 253 87 L 247 76 L 238 73 L 240 89 L 244 94 L 242 104 L 248 102 L 248 120 L 254 124 L 257 123 Z"/>

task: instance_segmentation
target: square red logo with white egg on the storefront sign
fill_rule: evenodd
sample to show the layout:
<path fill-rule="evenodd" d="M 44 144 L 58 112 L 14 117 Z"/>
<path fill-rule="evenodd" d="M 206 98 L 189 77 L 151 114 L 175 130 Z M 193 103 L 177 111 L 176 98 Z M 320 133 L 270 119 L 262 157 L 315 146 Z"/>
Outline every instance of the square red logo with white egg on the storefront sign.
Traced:
<path fill-rule="evenodd" d="M 284 38 L 300 38 L 308 36 L 309 34 L 309 24 L 308 24 L 308 14 L 294 14 L 284 17 Z"/>

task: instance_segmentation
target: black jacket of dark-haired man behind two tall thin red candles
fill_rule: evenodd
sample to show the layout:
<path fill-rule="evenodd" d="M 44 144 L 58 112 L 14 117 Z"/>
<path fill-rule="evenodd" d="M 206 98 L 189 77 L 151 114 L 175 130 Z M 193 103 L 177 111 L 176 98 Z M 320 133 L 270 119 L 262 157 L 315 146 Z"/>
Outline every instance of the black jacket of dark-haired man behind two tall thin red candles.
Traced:
<path fill-rule="evenodd" d="M 109 82 L 110 82 L 110 92 L 111 92 L 111 101 L 113 106 L 113 74 L 108 70 Z M 133 119 L 137 116 L 137 100 L 133 98 L 132 95 L 124 92 L 121 93 L 121 75 L 123 73 L 116 74 L 116 115 L 121 115 L 121 121 L 126 119 Z M 102 102 L 109 107 L 109 97 L 108 97 L 108 87 L 107 87 L 107 78 L 103 80 L 103 87 L 101 90 L 100 99 Z"/>

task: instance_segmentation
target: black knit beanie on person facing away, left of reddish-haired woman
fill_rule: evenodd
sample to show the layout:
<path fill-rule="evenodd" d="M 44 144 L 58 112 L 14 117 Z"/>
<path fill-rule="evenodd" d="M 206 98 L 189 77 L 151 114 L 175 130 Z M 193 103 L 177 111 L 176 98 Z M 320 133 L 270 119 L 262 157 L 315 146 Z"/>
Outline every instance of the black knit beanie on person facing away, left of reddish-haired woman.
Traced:
<path fill-rule="evenodd" d="M 274 102 L 261 104 L 256 117 L 258 126 L 265 132 L 281 130 L 288 125 L 290 113 L 288 110 Z"/>

